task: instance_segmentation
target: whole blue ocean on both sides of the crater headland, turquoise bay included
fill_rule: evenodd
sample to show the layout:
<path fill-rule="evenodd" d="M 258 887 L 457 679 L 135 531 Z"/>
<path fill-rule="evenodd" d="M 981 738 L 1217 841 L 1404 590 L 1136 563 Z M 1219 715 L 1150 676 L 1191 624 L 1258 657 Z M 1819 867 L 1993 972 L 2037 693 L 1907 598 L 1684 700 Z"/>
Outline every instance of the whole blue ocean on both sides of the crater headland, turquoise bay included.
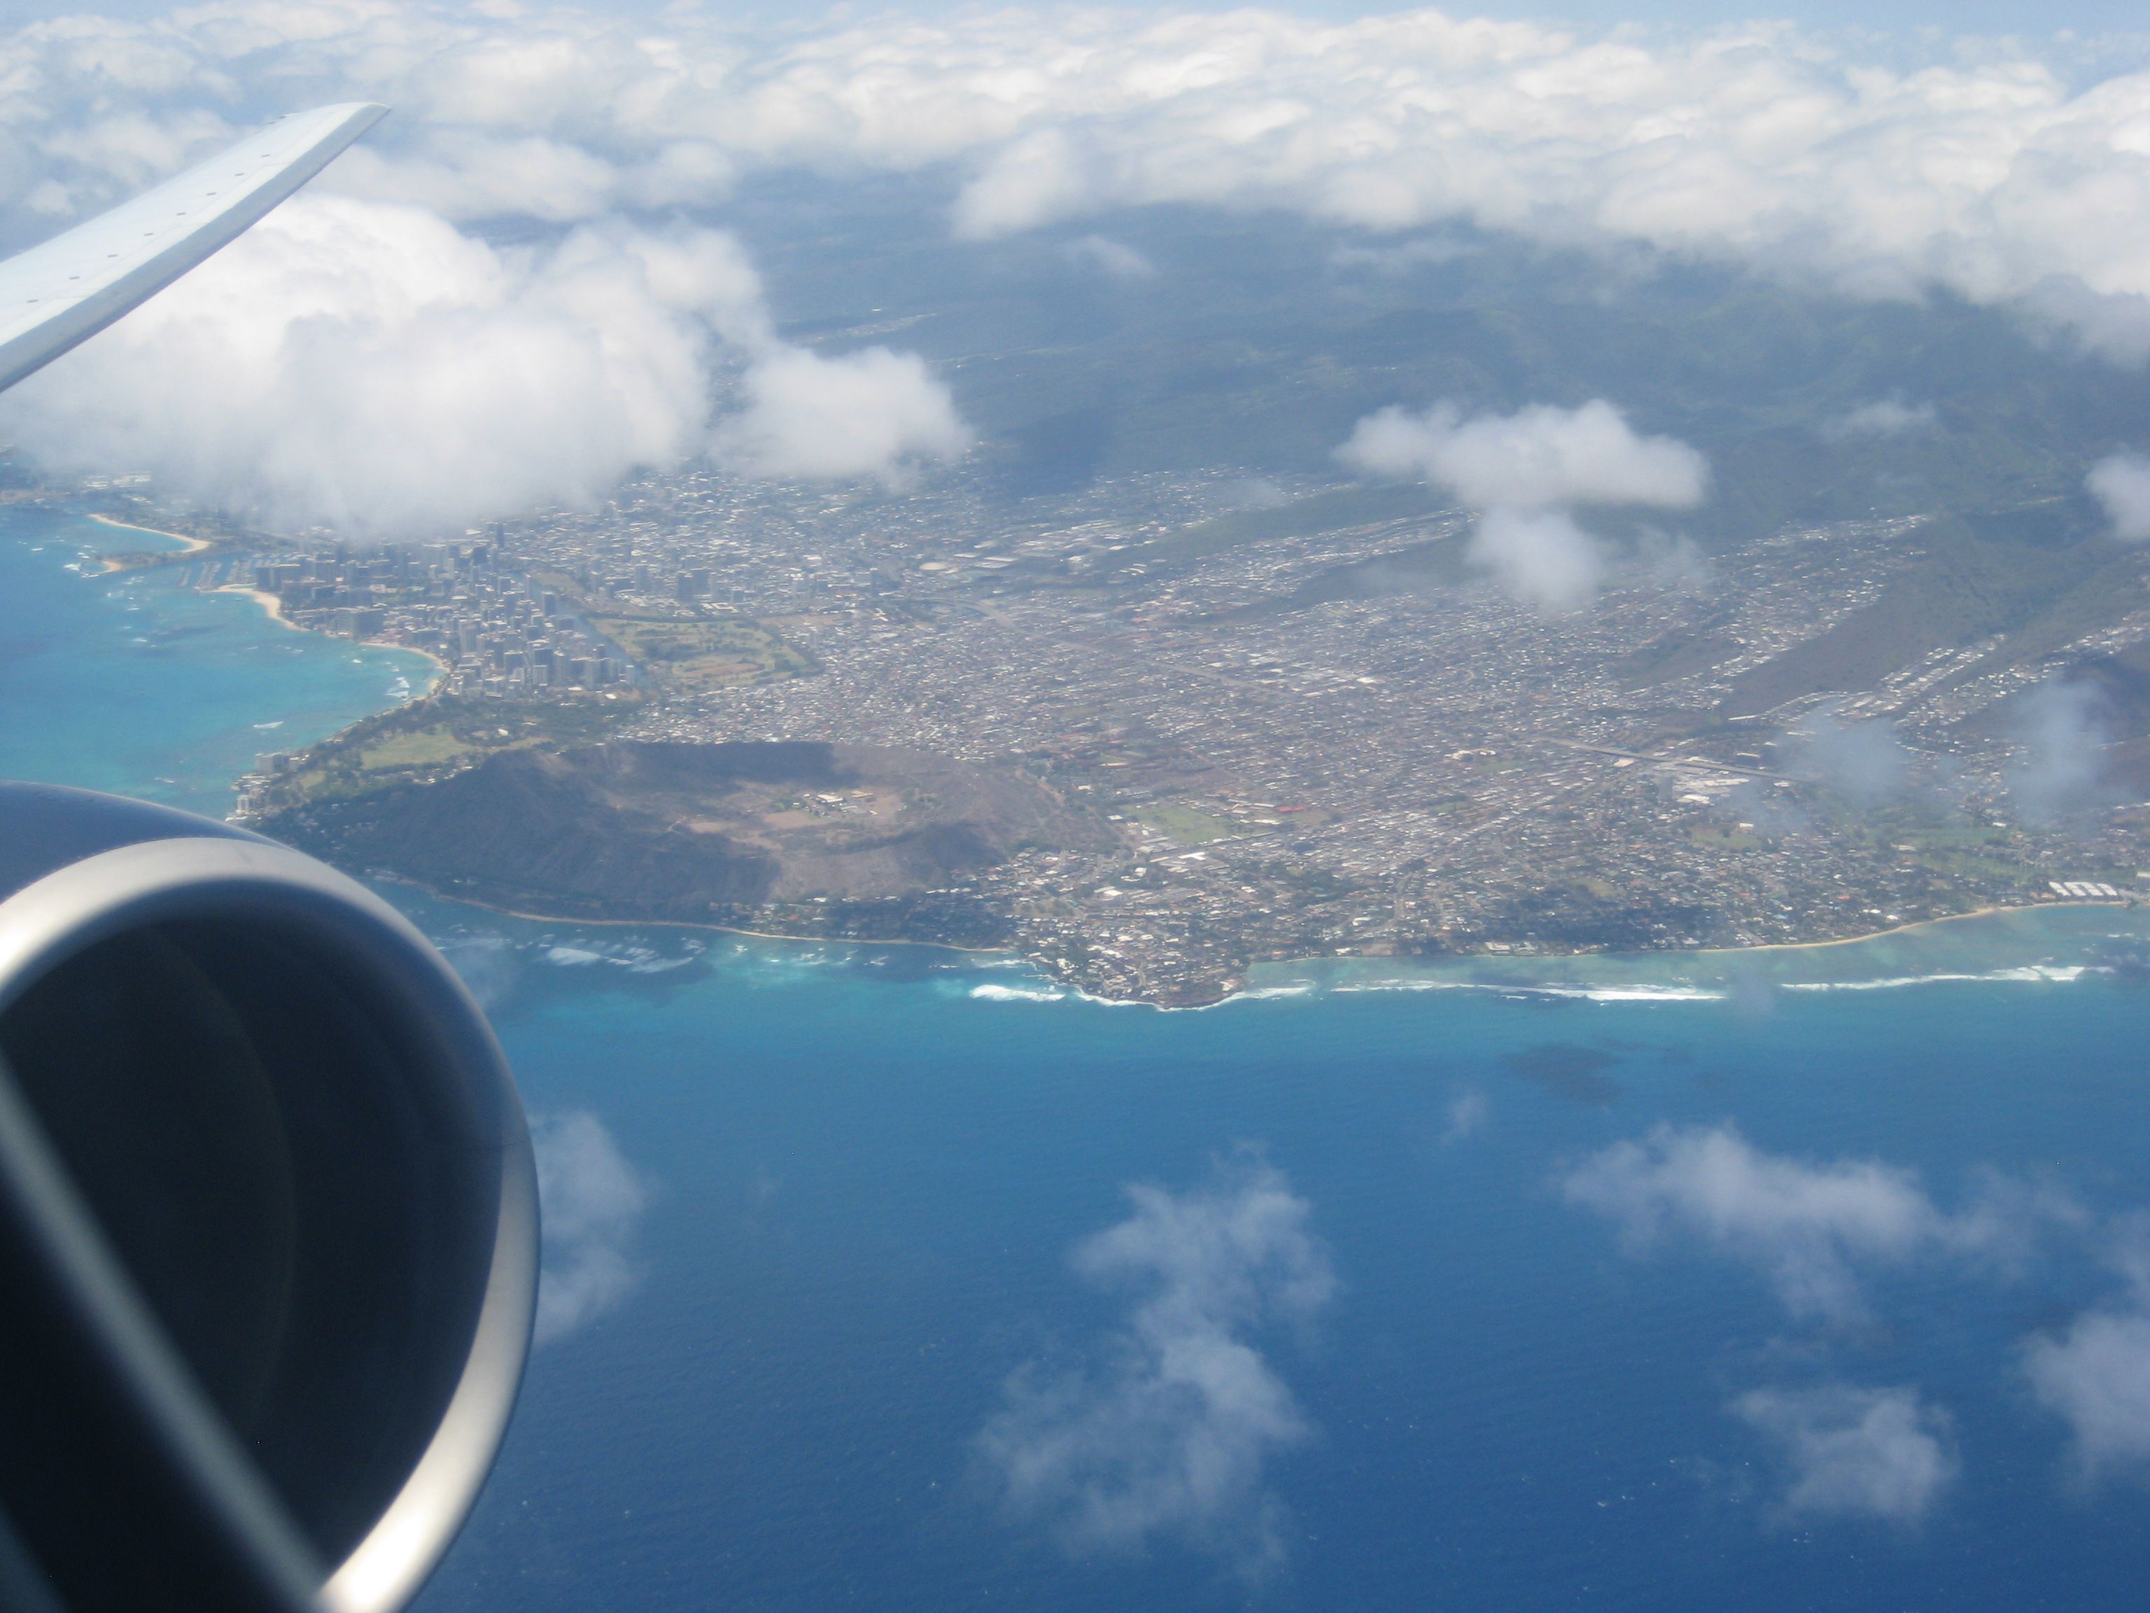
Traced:
<path fill-rule="evenodd" d="M 219 811 L 249 736 L 419 675 L 62 570 L 95 542 L 0 527 L 9 772 Z M 1331 959 L 1161 1013 L 389 895 L 494 1013 L 546 1164 L 544 1340 L 428 1613 L 2150 1581 L 2139 910 Z"/>

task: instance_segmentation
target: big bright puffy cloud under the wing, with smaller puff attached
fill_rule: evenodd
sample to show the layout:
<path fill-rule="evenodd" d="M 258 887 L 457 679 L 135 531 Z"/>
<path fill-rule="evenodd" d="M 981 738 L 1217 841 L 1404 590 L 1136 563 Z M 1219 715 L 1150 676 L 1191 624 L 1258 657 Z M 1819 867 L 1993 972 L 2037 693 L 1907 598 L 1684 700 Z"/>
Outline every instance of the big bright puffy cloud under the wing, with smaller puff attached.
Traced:
<path fill-rule="evenodd" d="M 823 359 L 774 338 L 714 230 L 585 226 L 499 249 L 415 206 L 301 196 L 4 402 L 45 465 L 129 465 L 282 525 L 460 531 L 589 503 L 707 447 L 740 469 L 897 477 L 968 443 L 912 355 Z"/>

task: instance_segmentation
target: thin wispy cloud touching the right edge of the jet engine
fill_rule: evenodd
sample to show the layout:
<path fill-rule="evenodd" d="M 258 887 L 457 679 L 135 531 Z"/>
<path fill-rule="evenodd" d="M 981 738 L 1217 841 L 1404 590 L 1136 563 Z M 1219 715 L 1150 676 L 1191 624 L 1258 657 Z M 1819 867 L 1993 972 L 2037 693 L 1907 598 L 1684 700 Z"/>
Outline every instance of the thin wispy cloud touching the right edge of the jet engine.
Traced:
<path fill-rule="evenodd" d="M 544 1269 L 538 1342 L 602 1316 L 634 1286 L 632 1245 L 649 1189 L 613 1133 L 583 1110 L 531 1116 Z"/>

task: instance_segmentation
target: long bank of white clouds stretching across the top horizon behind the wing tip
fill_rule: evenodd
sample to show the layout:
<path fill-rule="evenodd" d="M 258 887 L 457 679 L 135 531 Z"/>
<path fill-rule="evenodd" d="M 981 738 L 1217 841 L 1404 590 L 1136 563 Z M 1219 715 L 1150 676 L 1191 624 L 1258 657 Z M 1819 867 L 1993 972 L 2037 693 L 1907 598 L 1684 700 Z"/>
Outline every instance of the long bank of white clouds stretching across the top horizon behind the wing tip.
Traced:
<path fill-rule="evenodd" d="M 449 217 L 946 168 L 968 237 L 1150 202 L 1468 222 L 1873 297 L 1946 286 L 2141 353 L 2150 73 L 2077 65 L 2077 88 L 2027 45 L 1862 49 L 1784 24 L 1597 37 L 1440 11 L 838 13 L 752 34 L 682 9 L 239 0 L 9 37 L 0 202 L 62 217 L 264 112 L 366 95 L 400 127 L 338 183 Z"/>

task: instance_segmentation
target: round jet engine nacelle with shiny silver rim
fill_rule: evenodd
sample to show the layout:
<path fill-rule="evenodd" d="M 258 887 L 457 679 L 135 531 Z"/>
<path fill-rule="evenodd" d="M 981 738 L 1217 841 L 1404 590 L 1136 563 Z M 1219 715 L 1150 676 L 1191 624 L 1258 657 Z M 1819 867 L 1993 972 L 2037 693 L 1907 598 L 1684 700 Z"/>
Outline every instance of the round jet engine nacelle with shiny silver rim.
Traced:
<path fill-rule="evenodd" d="M 0 785 L 0 1604 L 400 1607 L 535 1288 L 522 1108 L 417 929 L 226 824 Z"/>

